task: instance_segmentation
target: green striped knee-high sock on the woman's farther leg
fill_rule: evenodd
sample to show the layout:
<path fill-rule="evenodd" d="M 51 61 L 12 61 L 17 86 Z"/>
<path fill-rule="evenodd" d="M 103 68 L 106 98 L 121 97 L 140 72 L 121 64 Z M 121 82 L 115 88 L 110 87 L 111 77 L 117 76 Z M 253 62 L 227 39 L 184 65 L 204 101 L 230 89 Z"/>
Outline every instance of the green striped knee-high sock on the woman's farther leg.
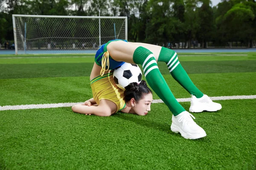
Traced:
<path fill-rule="evenodd" d="M 181 66 L 177 53 L 169 48 L 162 47 L 158 61 L 166 62 L 167 67 L 172 77 L 180 83 L 180 85 L 197 98 L 202 97 L 204 94 L 194 85 L 189 78 L 188 74 Z"/>

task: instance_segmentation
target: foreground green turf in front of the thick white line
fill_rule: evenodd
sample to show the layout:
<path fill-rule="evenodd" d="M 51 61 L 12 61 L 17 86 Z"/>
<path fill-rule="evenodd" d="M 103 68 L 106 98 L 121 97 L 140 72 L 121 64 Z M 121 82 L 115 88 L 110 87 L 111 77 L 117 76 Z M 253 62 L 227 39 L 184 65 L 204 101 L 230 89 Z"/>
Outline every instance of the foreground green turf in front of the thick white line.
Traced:
<path fill-rule="evenodd" d="M 254 169 L 255 102 L 220 101 L 221 111 L 195 113 L 207 132 L 197 140 L 172 133 L 164 104 L 152 105 L 147 116 L 86 116 L 70 108 L 1 111 L 1 168 Z M 189 102 L 182 105 L 189 108 Z"/>

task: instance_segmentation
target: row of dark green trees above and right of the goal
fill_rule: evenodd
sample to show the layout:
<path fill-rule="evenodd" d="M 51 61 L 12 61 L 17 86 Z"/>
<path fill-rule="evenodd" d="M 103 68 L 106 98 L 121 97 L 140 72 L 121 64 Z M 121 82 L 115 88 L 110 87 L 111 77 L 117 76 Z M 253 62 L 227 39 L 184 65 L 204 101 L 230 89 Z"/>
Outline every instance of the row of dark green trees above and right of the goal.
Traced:
<path fill-rule="evenodd" d="M 3 4 L 3 2 L 1 2 Z M 167 45 L 197 40 L 206 46 L 256 39 L 254 0 L 6 0 L 0 39 L 13 40 L 12 14 L 127 16 L 128 40 Z M 5 20 L 3 20 L 3 19 Z M 40 29 L 40 28 L 38 28 Z"/>

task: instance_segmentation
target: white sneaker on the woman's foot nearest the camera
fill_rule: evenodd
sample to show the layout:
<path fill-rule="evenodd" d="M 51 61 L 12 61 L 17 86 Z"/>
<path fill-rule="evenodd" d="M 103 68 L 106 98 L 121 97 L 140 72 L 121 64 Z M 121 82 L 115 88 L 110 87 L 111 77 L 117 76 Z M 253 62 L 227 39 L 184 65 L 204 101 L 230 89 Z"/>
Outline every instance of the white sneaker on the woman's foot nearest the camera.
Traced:
<path fill-rule="evenodd" d="M 206 136 L 204 129 L 198 126 L 194 120 L 195 117 L 187 111 L 183 111 L 177 116 L 172 115 L 171 130 L 180 133 L 186 139 L 199 139 Z"/>

